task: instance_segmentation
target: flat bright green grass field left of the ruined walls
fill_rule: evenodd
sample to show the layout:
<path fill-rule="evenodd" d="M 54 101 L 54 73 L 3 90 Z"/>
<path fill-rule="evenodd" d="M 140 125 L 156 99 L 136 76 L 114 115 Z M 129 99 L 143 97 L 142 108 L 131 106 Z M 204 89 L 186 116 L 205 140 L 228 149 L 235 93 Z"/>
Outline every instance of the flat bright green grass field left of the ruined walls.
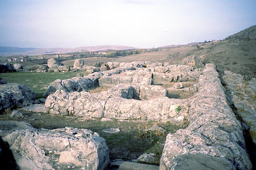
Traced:
<path fill-rule="evenodd" d="M 76 72 L 63 72 L 63 73 L 32 73 L 32 72 L 14 72 L 14 73 L 2 73 L 0 77 L 6 79 L 8 83 L 18 83 L 20 85 L 25 85 L 35 91 L 35 98 L 42 98 L 44 92 L 51 82 L 56 79 L 70 79 L 76 77 L 80 71 Z M 83 73 L 81 73 L 83 74 Z"/>

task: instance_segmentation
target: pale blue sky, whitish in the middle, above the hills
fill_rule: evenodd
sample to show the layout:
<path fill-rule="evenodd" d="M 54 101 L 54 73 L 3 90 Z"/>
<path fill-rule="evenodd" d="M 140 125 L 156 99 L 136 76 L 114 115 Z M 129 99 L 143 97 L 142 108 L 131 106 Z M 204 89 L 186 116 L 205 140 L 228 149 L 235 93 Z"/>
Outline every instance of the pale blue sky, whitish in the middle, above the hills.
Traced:
<path fill-rule="evenodd" d="M 256 25 L 256 0 L 0 0 L 0 46 L 152 48 Z"/>

